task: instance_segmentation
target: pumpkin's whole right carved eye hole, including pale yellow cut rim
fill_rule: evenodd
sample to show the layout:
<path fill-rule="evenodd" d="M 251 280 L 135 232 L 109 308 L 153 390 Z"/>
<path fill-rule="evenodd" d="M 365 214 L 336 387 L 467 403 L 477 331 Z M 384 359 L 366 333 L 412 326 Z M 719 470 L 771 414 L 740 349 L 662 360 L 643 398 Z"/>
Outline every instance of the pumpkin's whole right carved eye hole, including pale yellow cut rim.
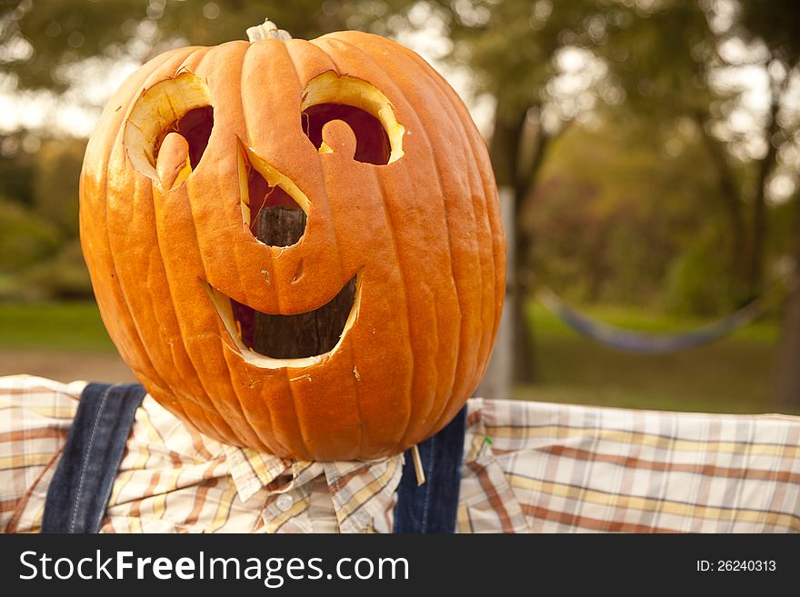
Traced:
<path fill-rule="evenodd" d="M 355 136 L 358 162 L 385 165 L 403 156 L 405 127 L 388 98 L 363 79 L 333 71 L 315 76 L 305 86 L 300 110 L 303 132 L 320 153 L 336 151 L 325 144 L 324 130 L 341 121 Z"/>

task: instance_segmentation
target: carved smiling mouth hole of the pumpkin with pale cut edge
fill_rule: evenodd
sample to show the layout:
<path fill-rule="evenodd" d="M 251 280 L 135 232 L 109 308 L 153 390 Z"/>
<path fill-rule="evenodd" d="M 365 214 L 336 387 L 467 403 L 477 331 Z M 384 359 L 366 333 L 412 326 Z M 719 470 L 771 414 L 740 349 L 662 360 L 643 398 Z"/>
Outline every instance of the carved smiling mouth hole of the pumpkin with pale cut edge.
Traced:
<path fill-rule="evenodd" d="M 265 369 L 320 363 L 342 344 L 361 306 L 364 270 L 333 299 L 305 313 L 264 313 L 239 303 L 203 280 L 225 330 L 247 363 Z"/>

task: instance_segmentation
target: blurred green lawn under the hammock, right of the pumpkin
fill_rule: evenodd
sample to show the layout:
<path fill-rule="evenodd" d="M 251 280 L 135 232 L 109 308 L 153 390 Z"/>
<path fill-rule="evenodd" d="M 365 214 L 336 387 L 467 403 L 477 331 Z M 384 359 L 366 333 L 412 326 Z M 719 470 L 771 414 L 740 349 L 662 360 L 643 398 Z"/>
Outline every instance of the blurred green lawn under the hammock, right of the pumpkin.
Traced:
<path fill-rule="evenodd" d="M 621 308 L 589 313 L 638 331 L 674 332 L 707 323 Z M 539 305 L 532 307 L 531 319 L 538 383 L 515 387 L 515 398 L 708 413 L 775 411 L 769 402 L 778 339 L 774 321 L 682 353 L 646 355 L 618 353 L 588 340 Z"/>

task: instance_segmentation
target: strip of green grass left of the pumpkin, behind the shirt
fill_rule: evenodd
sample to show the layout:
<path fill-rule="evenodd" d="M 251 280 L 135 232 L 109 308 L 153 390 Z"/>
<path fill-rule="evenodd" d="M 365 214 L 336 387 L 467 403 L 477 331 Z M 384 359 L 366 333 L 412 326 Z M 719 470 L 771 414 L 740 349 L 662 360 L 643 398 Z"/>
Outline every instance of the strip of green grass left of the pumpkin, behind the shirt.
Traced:
<path fill-rule="evenodd" d="M 114 353 L 95 303 L 0 303 L 0 349 Z"/>

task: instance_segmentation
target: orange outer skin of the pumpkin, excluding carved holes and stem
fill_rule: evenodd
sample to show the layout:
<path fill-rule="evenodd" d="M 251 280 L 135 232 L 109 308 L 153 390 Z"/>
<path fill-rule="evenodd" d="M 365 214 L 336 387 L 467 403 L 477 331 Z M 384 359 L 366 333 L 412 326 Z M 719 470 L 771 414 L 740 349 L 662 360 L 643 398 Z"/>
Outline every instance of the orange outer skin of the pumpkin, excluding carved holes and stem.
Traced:
<path fill-rule="evenodd" d="M 404 127 L 402 157 L 365 164 L 309 142 L 302 95 L 331 71 L 388 98 Z M 214 127 L 192 173 L 165 188 L 135 165 L 141 148 L 126 130 L 137 100 L 181 73 L 207 85 Z M 297 244 L 262 244 L 243 222 L 243 146 L 308 198 Z M 485 373 L 505 293 L 485 143 L 444 79 L 383 37 L 237 41 L 156 57 L 95 127 L 80 223 L 123 359 L 155 400 L 224 443 L 318 461 L 400 453 L 450 421 Z M 354 276 L 355 322 L 303 366 L 245 359 L 206 287 L 291 314 L 325 304 Z"/>

